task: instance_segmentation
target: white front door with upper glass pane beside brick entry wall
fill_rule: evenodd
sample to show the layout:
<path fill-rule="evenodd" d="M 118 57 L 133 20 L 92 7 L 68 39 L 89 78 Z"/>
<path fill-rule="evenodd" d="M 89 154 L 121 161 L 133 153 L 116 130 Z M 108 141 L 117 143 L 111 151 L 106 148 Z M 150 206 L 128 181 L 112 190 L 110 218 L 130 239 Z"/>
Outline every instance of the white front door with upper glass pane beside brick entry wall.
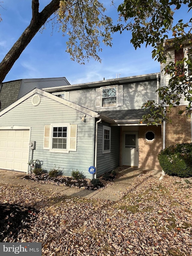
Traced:
<path fill-rule="evenodd" d="M 123 133 L 122 165 L 138 166 L 138 133 Z"/>

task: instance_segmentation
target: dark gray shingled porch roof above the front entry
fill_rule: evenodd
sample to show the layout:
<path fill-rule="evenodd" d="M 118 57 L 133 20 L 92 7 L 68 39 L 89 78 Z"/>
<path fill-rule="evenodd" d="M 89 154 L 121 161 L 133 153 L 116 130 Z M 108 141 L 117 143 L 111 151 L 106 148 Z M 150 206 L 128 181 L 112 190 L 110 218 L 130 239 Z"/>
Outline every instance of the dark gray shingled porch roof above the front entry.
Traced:
<path fill-rule="evenodd" d="M 99 112 L 99 114 L 113 120 L 140 120 L 142 119 L 143 115 L 148 113 L 151 113 L 151 111 L 148 109 L 111 110 Z"/>

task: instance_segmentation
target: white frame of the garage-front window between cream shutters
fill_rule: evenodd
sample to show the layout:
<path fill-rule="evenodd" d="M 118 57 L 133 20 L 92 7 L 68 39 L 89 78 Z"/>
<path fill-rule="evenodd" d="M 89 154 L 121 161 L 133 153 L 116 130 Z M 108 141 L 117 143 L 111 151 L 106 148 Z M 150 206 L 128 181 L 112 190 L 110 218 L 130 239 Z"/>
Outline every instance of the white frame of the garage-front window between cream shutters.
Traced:
<path fill-rule="evenodd" d="M 52 139 L 53 139 L 53 127 L 67 127 L 67 148 L 66 149 L 53 149 L 52 148 Z M 51 124 L 50 125 L 50 134 L 49 134 L 49 141 L 50 141 L 50 149 L 49 152 L 60 152 L 60 153 L 69 153 L 69 142 L 70 142 L 70 124 L 65 123 L 65 124 Z"/>

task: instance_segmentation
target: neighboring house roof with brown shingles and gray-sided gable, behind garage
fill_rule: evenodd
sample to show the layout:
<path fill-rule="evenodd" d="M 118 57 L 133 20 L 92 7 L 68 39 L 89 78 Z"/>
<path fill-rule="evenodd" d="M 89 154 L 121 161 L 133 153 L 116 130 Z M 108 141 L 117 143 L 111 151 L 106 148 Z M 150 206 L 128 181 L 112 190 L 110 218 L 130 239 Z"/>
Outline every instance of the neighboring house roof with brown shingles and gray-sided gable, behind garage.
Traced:
<path fill-rule="evenodd" d="M 55 78 L 35 78 L 35 79 L 20 79 L 2 83 L 0 85 L 0 101 L 1 110 L 8 107 L 10 104 L 30 92 L 34 88 L 42 89 L 42 87 L 51 86 L 69 86 L 70 83 L 65 77 Z"/>

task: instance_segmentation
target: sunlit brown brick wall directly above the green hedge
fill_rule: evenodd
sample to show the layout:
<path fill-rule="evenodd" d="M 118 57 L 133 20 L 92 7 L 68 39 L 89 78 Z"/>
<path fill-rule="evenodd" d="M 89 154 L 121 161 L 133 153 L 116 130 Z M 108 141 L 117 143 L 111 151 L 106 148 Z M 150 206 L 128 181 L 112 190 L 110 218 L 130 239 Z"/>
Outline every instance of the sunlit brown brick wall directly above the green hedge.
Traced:
<path fill-rule="evenodd" d="M 184 109 L 185 106 L 178 106 L 172 108 L 171 113 L 167 113 L 167 116 L 172 120 L 172 123 L 166 124 L 166 147 L 176 143 L 191 142 L 191 119 L 184 114 L 178 114 L 179 110 Z"/>

